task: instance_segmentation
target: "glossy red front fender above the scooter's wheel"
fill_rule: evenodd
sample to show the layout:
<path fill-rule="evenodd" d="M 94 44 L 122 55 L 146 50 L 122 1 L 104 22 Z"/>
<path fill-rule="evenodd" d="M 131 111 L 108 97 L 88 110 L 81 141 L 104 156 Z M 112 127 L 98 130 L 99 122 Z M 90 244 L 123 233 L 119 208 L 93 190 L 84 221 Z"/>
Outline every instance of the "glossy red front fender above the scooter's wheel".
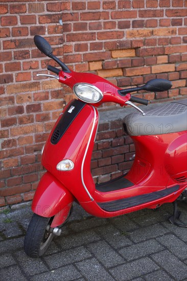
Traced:
<path fill-rule="evenodd" d="M 52 174 L 46 172 L 40 179 L 32 202 L 32 211 L 42 217 L 53 217 L 71 205 L 74 196 Z"/>

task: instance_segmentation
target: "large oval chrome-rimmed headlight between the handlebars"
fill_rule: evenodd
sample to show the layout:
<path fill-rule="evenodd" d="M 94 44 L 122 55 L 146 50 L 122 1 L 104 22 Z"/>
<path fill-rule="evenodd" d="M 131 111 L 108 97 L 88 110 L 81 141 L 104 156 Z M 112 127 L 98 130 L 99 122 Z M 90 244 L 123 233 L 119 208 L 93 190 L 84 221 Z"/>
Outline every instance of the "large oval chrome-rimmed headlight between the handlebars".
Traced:
<path fill-rule="evenodd" d="M 73 90 L 75 95 L 83 102 L 97 103 L 103 98 L 102 91 L 91 84 L 75 84 Z"/>

